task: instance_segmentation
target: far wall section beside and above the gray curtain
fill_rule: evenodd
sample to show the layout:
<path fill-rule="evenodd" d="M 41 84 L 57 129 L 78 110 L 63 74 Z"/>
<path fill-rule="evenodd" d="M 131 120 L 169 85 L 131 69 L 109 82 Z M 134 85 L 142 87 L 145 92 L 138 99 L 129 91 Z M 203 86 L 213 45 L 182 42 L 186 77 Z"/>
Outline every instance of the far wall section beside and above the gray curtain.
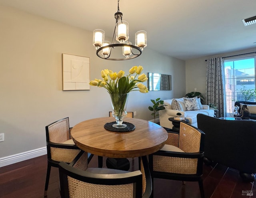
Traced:
<path fill-rule="evenodd" d="M 212 57 L 226 57 L 231 55 L 239 55 L 255 51 L 256 48 L 252 48 L 241 51 L 233 51 L 231 53 L 216 54 L 212 56 L 201 57 L 198 59 L 191 59 L 186 61 L 186 93 L 194 91 L 194 88 L 197 88 L 197 91 L 201 92 L 203 95 L 206 94 L 206 59 Z"/>

